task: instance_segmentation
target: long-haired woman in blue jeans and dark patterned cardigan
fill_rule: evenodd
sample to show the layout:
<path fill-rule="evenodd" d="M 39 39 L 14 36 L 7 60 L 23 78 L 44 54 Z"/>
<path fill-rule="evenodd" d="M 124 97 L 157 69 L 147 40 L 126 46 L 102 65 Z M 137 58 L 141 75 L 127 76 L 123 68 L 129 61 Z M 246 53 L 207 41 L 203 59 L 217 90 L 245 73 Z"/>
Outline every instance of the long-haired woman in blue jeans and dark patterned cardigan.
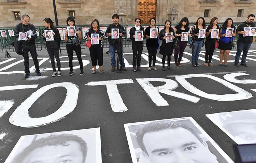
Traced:
<path fill-rule="evenodd" d="M 192 56 L 191 62 L 192 66 L 199 66 L 198 57 L 201 52 L 202 47 L 204 46 L 204 38 L 198 38 L 199 30 L 205 29 L 205 20 L 203 17 L 199 17 L 195 25 L 190 30 L 192 45 Z"/>

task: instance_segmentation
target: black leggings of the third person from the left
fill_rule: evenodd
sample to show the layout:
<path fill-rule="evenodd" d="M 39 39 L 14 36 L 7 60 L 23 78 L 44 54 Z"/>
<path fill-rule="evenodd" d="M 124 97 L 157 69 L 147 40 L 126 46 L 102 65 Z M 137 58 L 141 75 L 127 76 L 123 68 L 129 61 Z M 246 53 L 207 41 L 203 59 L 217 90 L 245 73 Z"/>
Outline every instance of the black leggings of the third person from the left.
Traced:
<path fill-rule="evenodd" d="M 77 59 L 79 61 L 79 65 L 80 65 L 80 70 L 83 71 L 83 61 L 82 61 L 82 51 L 81 51 L 81 47 L 80 45 L 76 45 L 74 46 L 74 44 L 69 44 L 66 43 L 66 47 L 67 47 L 67 53 L 68 53 L 68 57 L 69 57 L 69 69 L 70 71 L 73 71 L 73 52 L 75 51 L 75 54 L 77 56 Z"/>

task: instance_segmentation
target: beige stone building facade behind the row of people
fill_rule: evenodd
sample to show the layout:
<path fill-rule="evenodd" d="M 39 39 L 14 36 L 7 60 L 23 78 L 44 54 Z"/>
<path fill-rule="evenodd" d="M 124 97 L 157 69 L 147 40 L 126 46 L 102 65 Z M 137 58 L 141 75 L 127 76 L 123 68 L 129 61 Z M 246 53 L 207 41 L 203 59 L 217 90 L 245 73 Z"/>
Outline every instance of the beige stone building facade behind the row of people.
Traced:
<path fill-rule="evenodd" d="M 155 16 L 157 24 L 170 19 L 176 24 L 182 17 L 195 22 L 204 16 L 206 22 L 218 17 L 224 22 L 231 17 L 234 22 L 246 20 L 247 15 L 255 13 L 256 0 L 55 0 L 59 25 L 66 26 L 66 18 L 75 17 L 76 24 L 90 24 L 98 19 L 100 24 L 112 23 L 112 15 L 118 13 L 121 24 L 133 24 L 134 18 L 143 17 L 143 24 Z M 13 27 L 19 23 L 19 16 L 28 14 L 31 23 L 43 26 L 45 17 L 54 22 L 52 0 L 0 0 L 0 27 Z"/>

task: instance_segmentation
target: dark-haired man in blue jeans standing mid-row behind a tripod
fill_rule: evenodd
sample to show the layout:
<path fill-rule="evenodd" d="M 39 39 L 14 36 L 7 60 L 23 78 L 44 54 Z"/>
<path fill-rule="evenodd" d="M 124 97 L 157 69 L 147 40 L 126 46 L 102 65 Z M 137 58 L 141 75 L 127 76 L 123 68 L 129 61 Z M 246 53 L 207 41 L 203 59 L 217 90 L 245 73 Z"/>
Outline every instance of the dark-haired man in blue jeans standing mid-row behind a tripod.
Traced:
<path fill-rule="evenodd" d="M 125 34 L 123 34 L 123 32 L 125 32 L 125 29 L 123 27 L 123 25 L 119 24 L 119 15 L 117 14 L 114 14 L 112 16 L 112 19 L 113 19 L 113 24 L 110 24 L 108 26 L 108 28 L 106 29 L 106 32 L 105 32 L 105 36 L 109 37 L 109 52 L 110 52 L 110 56 L 111 56 L 111 66 L 112 66 L 112 69 L 111 71 L 115 71 L 116 70 L 116 59 L 115 59 L 115 52 L 116 50 L 118 50 L 118 48 L 120 48 L 120 45 L 118 44 L 118 40 L 119 39 L 112 39 L 111 36 L 112 36 L 112 33 L 111 33 L 111 29 L 119 29 L 119 36 L 120 37 L 125 37 Z M 125 68 L 125 64 L 124 64 L 124 56 L 123 56 L 123 53 L 124 53 L 124 49 L 123 47 L 122 48 L 122 55 L 119 56 L 119 61 L 120 63 L 122 63 L 122 70 L 123 71 L 126 71 L 126 68 Z"/>

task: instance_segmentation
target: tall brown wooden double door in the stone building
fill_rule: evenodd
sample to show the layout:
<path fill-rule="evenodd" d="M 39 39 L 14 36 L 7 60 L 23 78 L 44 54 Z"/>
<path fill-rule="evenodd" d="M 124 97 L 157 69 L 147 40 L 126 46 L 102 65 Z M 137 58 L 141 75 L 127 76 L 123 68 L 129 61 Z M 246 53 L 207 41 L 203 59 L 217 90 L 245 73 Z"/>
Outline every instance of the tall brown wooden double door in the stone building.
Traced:
<path fill-rule="evenodd" d="M 157 0 L 138 0 L 138 17 L 141 18 L 141 24 L 150 24 L 149 19 L 156 17 Z"/>

